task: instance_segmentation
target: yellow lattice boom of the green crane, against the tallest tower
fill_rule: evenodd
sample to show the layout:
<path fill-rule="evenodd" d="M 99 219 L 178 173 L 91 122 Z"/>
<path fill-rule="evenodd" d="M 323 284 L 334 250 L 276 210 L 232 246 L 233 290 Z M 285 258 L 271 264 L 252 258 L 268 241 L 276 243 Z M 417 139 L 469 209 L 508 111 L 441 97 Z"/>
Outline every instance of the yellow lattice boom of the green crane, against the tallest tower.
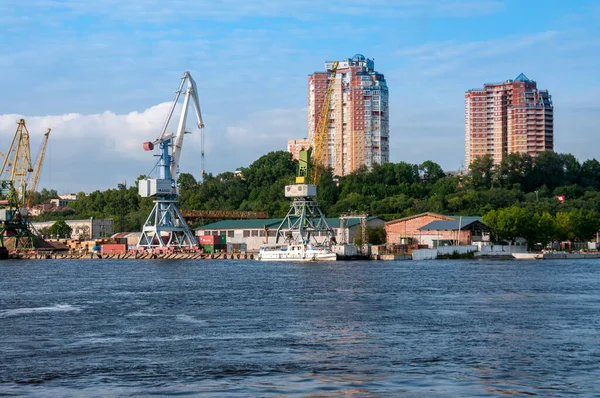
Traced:
<path fill-rule="evenodd" d="M 327 92 L 325 93 L 325 99 L 323 101 L 323 106 L 321 107 L 321 112 L 319 113 L 317 126 L 313 136 L 313 150 L 311 155 L 314 165 L 312 168 L 312 182 L 315 185 L 319 183 L 319 176 L 323 169 L 327 167 L 329 111 L 331 109 L 331 97 L 333 96 L 333 89 L 335 88 L 335 75 L 338 65 L 339 62 L 335 61 L 329 70 L 329 72 L 331 72 L 331 78 L 327 85 Z"/>

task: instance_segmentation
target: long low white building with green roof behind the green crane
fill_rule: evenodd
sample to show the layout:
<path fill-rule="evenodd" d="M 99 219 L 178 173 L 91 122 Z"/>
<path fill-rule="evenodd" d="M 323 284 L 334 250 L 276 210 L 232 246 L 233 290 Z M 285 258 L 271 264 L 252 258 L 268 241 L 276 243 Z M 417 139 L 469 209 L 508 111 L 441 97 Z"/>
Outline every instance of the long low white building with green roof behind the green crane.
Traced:
<path fill-rule="evenodd" d="M 346 227 L 341 227 L 339 218 L 327 218 L 327 224 L 333 229 L 336 240 L 341 243 L 354 243 L 359 232 L 360 220 L 348 219 Z M 196 236 L 225 235 L 227 243 L 245 243 L 248 251 L 258 251 L 264 244 L 275 243 L 277 227 L 283 219 L 255 219 L 255 220 L 224 220 L 204 225 L 195 229 Z M 369 217 L 367 226 L 383 227 L 385 221 L 378 217 Z"/>

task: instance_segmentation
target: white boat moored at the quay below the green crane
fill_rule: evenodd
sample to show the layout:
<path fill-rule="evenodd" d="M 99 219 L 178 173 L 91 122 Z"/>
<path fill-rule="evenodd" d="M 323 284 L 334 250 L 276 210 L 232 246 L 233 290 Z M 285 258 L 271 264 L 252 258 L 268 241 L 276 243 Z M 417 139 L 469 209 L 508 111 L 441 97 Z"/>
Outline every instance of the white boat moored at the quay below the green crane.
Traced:
<path fill-rule="evenodd" d="M 326 246 L 310 243 L 261 246 L 258 261 L 336 261 L 337 254 Z"/>

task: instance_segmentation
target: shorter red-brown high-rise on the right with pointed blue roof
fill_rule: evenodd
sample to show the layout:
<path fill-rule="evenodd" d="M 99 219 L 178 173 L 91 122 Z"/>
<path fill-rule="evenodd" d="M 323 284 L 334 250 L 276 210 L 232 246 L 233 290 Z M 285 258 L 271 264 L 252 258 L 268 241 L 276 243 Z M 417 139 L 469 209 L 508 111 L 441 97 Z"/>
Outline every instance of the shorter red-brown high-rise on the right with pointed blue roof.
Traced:
<path fill-rule="evenodd" d="M 491 154 L 494 163 L 505 153 L 532 157 L 554 150 L 554 113 L 548 90 L 524 74 L 504 83 L 485 84 L 465 94 L 465 161 Z"/>

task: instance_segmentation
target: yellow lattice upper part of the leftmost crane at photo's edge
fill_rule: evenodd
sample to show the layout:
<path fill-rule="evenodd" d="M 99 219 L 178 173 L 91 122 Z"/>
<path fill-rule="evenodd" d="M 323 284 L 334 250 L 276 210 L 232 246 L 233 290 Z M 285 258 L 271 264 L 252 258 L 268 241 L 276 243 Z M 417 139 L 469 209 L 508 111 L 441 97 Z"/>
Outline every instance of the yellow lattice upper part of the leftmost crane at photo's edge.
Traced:
<path fill-rule="evenodd" d="M 19 198 L 19 204 L 24 206 L 27 173 L 33 171 L 29 149 L 29 131 L 25 126 L 24 119 L 17 122 L 17 131 L 15 131 L 8 152 L 3 158 L 2 167 L 0 167 L 0 179 L 12 182 Z"/>

